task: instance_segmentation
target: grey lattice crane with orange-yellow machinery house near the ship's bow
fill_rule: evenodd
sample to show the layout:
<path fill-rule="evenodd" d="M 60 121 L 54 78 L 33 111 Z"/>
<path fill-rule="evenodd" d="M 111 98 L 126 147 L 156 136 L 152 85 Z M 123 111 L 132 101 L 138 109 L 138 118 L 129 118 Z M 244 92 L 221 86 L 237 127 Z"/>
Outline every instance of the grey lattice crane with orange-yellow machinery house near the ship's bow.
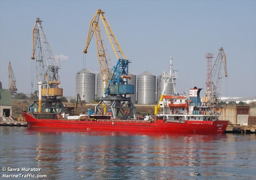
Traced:
<path fill-rule="evenodd" d="M 65 112 L 65 107 L 62 105 L 61 100 L 57 97 L 63 95 L 63 90 L 60 88 L 60 77 L 57 63 L 52 54 L 50 45 L 46 38 L 42 20 L 36 18 L 36 23 L 32 30 L 32 55 L 31 59 L 36 63 L 36 82 L 38 84 L 38 112 L 41 113 L 42 108 L 48 108 L 51 112 Z M 43 104 L 41 104 L 42 99 Z M 37 104 L 37 101 L 30 106 Z"/>

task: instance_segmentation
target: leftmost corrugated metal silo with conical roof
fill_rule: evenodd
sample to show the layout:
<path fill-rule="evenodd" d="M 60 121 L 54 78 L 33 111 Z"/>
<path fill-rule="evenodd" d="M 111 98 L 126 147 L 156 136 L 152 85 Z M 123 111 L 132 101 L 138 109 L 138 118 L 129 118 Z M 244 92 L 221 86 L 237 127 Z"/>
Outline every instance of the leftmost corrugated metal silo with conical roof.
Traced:
<path fill-rule="evenodd" d="M 83 69 L 76 73 L 76 95 L 81 100 L 91 103 L 95 99 L 95 74 L 89 69 Z"/>

